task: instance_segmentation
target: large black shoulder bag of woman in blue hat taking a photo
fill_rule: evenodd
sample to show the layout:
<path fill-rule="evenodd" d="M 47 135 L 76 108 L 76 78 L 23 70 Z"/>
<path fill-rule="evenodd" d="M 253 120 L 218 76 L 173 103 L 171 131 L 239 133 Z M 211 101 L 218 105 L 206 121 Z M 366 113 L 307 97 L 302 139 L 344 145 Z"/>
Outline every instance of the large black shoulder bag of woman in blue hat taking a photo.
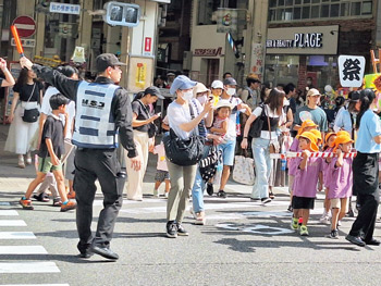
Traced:
<path fill-rule="evenodd" d="M 195 119 L 189 105 L 192 120 Z M 188 139 L 180 138 L 172 128 L 163 137 L 167 159 L 176 165 L 188 166 L 197 164 L 204 156 L 205 137 L 192 133 Z"/>

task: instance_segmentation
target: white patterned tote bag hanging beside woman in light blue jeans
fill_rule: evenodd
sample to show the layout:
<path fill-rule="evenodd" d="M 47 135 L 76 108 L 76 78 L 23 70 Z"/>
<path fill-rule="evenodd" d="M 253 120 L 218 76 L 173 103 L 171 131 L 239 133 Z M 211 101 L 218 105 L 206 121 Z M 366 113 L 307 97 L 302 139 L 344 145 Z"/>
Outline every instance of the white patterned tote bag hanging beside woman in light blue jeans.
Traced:
<path fill-rule="evenodd" d="M 246 150 L 243 154 L 234 157 L 233 179 L 239 184 L 254 185 L 256 179 L 254 159 L 247 156 Z"/>

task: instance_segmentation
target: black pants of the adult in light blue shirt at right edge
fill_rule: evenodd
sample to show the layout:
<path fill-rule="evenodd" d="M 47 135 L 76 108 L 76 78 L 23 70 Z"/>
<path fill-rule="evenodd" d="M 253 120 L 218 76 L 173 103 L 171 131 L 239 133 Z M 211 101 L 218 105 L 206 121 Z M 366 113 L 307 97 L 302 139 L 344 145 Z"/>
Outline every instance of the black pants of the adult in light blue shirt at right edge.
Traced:
<path fill-rule="evenodd" d="M 380 203 L 378 161 L 378 153 L 357 152 L 353 162 L 353 191 L 357 196 L 360 210 L 349 235 L 359 236 L 362 232 L 366 243 L 373 238 L 377 209 Z"/>

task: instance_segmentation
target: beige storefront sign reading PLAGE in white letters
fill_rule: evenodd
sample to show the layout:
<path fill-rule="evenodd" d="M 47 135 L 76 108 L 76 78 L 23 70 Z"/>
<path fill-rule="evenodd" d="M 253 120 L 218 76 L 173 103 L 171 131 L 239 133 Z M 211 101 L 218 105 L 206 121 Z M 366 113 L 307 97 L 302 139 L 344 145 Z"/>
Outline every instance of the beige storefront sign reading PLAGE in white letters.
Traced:
<path fill-rule="evenodd" d="M 336 54 L 339 26 L 270 28 L 267 53 Z"/>

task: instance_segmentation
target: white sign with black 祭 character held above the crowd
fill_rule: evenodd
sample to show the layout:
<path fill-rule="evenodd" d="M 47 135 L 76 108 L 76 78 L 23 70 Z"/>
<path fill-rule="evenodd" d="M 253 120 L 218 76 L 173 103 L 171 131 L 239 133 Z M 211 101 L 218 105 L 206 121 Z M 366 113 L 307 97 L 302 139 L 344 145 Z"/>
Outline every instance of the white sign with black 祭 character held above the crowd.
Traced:
<path fill-rule="evenodd" d="M 360 55 L 340 55 L 339 74 L 342 87 L 360 87 L 365 71 L 365 58 Z"/>

